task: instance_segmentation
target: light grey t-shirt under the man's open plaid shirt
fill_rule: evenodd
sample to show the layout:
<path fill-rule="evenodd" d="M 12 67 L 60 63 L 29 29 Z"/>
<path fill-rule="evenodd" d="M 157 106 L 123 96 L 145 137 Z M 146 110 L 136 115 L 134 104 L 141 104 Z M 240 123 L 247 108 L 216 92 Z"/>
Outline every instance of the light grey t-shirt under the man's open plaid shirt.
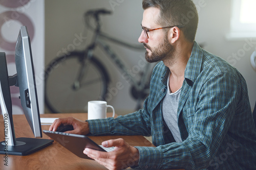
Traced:
<path fill-rule="evenodd" d="M 176 142 L 182 142 L 177 119 L 181 88 L 178 91 L 171 93 L 169 89 L 169 76 L 167 80 L 167 88 L 167 93 L 163 99 L 163 118 Z"/>

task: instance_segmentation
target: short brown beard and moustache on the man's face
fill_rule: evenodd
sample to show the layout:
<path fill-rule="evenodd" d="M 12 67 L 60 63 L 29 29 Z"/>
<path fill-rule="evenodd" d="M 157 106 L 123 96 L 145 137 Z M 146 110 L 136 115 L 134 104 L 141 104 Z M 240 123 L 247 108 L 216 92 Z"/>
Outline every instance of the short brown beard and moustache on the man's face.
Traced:
<path fill-rule="evenodd" d="M 148 54 L 148 51 L 145 52 L 145 59 L 147 62 L 154 63 L 163 61 L 169 57 L 173 58 L 174 46 L 169 43 L 167 35 L 165 37 L 166 38 L 163 40 L 163 42 L 153 49 L 144 43 L 144 46 L 152 52 L 151 55 Z"/>

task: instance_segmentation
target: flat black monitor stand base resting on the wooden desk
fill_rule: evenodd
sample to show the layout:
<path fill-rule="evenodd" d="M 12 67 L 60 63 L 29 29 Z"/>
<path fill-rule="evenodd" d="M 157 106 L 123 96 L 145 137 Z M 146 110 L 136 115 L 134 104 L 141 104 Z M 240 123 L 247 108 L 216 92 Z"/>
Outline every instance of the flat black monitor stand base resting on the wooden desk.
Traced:
<path fill-rule="evenodd" d="M 24 156 L 32 152 L 40 150 L 52 144 L 51 139 L 39 139 L 39 138 L 26 138 L 19 137 L 16 138 L 16 145 L 8 145 L 7 141 L 0 142 L 0 154 L 3 155 L 19 155 Z"/>

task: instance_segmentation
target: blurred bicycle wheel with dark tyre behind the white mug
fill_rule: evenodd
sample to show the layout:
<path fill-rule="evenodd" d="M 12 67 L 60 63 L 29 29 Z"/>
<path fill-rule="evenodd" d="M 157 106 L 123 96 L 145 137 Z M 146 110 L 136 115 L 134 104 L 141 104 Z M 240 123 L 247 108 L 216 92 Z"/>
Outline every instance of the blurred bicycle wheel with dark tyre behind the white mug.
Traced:
<path fill-rule="evenodd" d="M 109 82 L 108 73 L 95 57 L 84 61 L 83 55 L 83 52 L 72 52 L 68 56 L 54 59 L 47 67 L 45 103 L 51 112 L 87 112 L 88 101 L 104 100 Z"/>

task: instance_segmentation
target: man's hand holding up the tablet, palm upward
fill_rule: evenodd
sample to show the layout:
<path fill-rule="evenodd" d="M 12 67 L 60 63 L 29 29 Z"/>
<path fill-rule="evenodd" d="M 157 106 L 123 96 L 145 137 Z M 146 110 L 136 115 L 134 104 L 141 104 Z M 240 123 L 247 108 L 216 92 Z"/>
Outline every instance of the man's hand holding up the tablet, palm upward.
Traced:
<path fill-rule="evenodd" d="M 106 148 L 115 147 L 115 150 L 112 152 L 101 152 L 86 148 L 83 153 L 108 169 L 125 169 L 126 167 L 138 165 L 139 151 L 123 139 L 103 141 L 102 145 Z"/>

